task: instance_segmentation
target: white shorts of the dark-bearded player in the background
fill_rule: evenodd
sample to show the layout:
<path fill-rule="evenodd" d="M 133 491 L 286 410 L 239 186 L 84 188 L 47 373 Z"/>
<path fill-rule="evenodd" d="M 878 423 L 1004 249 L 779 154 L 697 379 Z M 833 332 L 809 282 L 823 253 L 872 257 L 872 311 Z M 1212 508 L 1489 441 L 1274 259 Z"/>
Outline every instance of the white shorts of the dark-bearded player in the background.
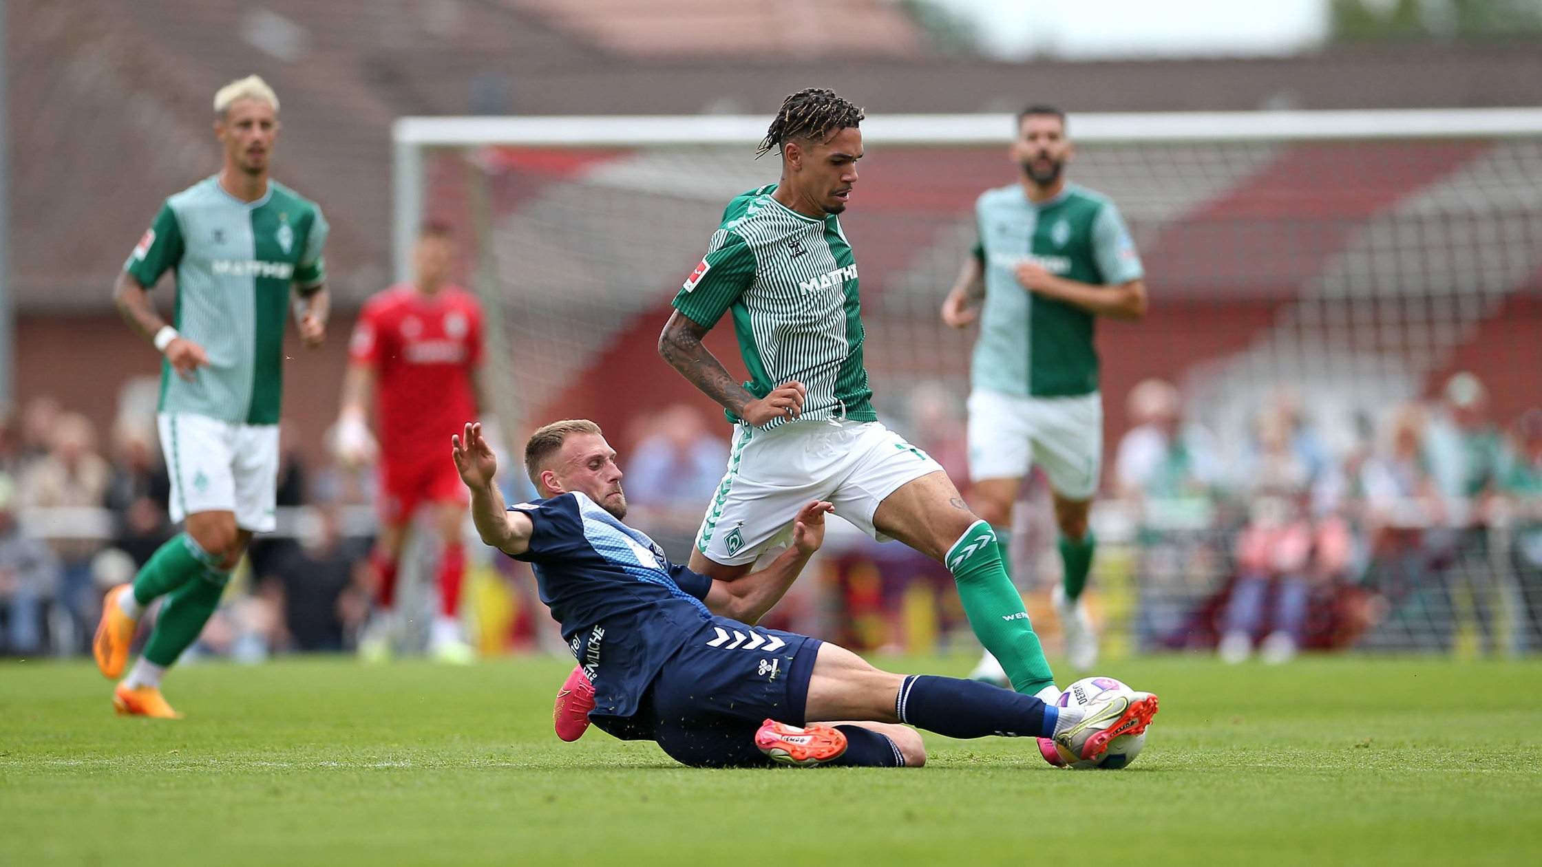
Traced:
<path fill-rule="evenodd" d="M 1103 474 L 1103 395 L 1019 398 L 990 389 L 968 396 L 968 477 L 1022 478 L 1044 467 L 1066 500 L 1092 500 Z"/>

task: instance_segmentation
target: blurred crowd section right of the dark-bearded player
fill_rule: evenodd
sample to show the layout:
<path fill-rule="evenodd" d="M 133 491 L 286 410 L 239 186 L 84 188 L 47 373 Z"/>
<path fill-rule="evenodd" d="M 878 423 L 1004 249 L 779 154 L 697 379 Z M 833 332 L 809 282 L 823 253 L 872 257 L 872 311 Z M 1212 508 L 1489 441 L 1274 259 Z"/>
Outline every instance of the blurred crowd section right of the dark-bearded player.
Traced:
<path fill-rule="evenodd" d="M 1126 413 L 1112 489 L 1135 528 L 1141 646 L 1283 662 L 1542 645 L 1542 409 L 1502 427 L 1463 372 L 1332 449 L 1280 390 L 1232 460 L 1169 383 L 1135 386 Z"/>

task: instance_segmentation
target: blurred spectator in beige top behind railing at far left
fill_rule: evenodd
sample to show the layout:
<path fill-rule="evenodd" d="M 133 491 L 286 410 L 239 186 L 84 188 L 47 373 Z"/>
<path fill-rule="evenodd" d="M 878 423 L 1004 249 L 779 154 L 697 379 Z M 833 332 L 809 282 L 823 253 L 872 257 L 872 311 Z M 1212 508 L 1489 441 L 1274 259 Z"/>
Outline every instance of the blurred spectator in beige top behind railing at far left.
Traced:
<path fill-rule="evenodd" d="M 35 401 L 34 401 L 35 403 Z M 96 427 L 77 413 L 59 415 L 51 449 L 22 477 L 20 501 L 28 509 L 99 509 L 106 497 L 111 467 L 97 454 Z M 100 535 L 65 534 L 49 540 L 63 566 L 60 600 L 76 620 L 77 634 L 89 636 L 100 599 L 91 586 L 91 555 L 106 541 Z M 82 525 L 85 526 L 85 525 Z"/>

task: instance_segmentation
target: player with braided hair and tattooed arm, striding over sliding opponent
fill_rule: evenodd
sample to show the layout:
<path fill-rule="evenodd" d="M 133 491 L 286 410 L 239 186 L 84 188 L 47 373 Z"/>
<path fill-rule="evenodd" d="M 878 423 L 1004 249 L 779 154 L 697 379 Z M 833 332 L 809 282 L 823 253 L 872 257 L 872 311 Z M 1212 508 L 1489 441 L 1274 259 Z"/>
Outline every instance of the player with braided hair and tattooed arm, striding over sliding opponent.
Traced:
<path fill-rule="evenodd" d="M 760 145 L 780 150 L 780 182 L 728 205 L 660 335 L 660 355 L 736 423 L 728 474 L 689 568 L 739 579 L 786 537 L 797 506 L 828 500 L 868 535 L 942 562 L 1012 685 L 1055 700 L 1053 674 L 990 525 L 931 457 L 873 412 L 857 264 L 839 221 L 857 180 L 860 120 L 860 108 L 828 89 L 786 97 Z M 749 369 L 745 384 L 702 346 L 725 313 Z"/>

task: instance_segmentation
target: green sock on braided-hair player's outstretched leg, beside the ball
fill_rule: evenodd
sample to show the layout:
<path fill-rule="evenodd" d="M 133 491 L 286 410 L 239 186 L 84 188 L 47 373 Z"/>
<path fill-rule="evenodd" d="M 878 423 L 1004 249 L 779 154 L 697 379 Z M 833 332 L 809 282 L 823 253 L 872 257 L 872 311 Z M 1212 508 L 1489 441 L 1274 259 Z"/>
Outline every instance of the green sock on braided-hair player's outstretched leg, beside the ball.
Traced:
<path fill-rule="evenodd" d="M 944 560 L 959 586 L 959 600 L 979 643 L 1001 662 L 1012 688 L 1029 696 L 1055 683 L 1039 637 L 1033 634 L 1022 595 L 1012 586 L 1001 563 L 1001 549 L 990 525 L 970 526 Z"/>

